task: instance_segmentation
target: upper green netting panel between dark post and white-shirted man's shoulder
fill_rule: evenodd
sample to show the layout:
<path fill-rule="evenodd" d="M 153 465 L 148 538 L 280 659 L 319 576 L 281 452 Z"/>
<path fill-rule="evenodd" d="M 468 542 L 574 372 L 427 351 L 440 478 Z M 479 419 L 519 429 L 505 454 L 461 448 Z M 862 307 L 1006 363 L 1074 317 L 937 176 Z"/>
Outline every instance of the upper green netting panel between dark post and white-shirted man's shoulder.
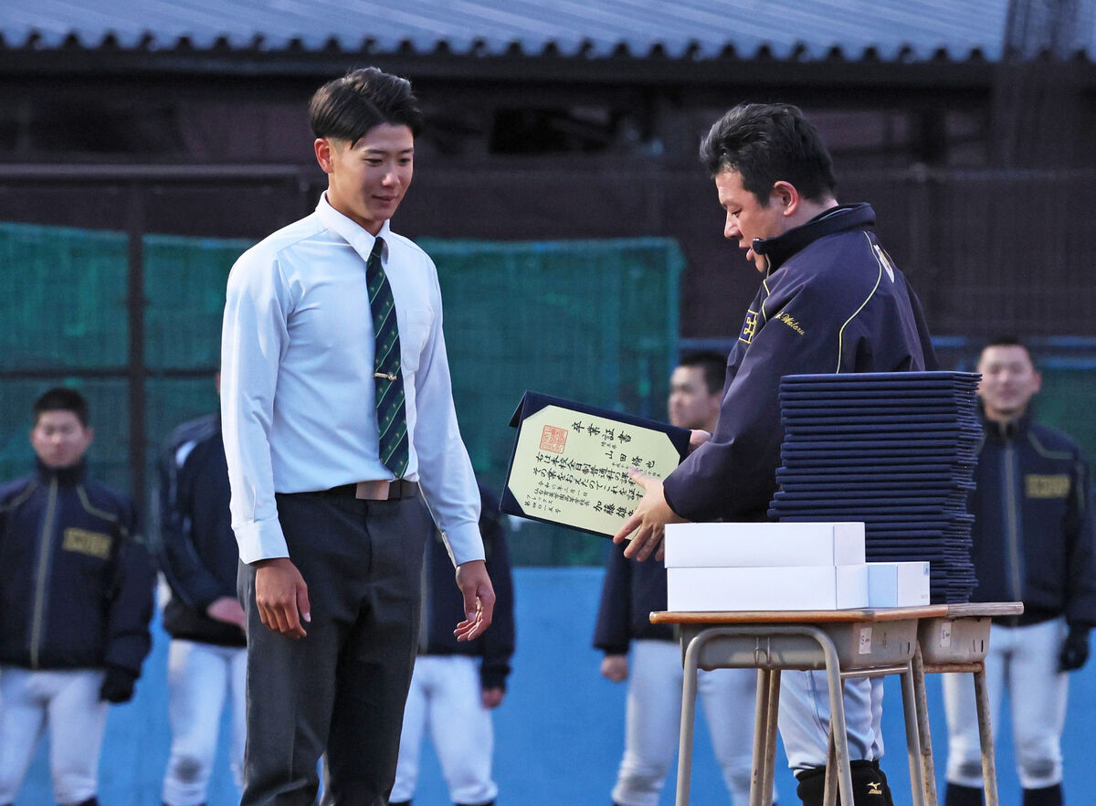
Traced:
<path fill-rule="evenodd" d="M 145 236 L 145 361 L 149 368 L 217 366 L 225 283 L 246 240 Z"/>

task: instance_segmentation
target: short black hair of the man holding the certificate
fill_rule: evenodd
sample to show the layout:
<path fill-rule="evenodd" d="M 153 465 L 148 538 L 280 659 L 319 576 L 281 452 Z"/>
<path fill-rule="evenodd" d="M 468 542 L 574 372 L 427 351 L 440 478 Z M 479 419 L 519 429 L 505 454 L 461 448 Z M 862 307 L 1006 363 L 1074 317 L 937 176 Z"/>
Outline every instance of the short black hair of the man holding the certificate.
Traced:
<path fill-rule="evenodd" d="M 762 204 L 780 181 L 813 202 L 837 186 L 818 129 L 785 103 L 740 103 L 712 124 L 700 143 L 700 161 L 712 177 L 738 171 L 742 186 Z"/>

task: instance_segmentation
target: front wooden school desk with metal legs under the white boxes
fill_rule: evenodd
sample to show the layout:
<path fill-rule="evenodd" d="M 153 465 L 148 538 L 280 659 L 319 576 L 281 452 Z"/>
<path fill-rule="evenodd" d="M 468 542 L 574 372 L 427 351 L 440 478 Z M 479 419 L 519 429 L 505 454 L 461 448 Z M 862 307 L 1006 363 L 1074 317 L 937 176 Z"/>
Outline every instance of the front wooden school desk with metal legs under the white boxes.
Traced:
<path fill-rule="evenodd" d="M 902 677 L 906 745 L 914 804 L 925 803 L 926 784 L 912 661 L 922 618 L 945 617 L 947 605 L 837 611 L 651 613 L 654 624 L 681 629 L 684 654 L 677 806 L 687 806 L 698 669 L 757 669 L 751 806 L 770 806 L 776 763 L 776 716 L 780 670 L 824 669 L 830 694 L 826 804 L 841 793 L 853 803 L 845 731 L 843 681 L 850 677 Z M 927 723 L 927 719 L 925 720 Z M 833 772 L 836 771 L 836 774 Z"/>

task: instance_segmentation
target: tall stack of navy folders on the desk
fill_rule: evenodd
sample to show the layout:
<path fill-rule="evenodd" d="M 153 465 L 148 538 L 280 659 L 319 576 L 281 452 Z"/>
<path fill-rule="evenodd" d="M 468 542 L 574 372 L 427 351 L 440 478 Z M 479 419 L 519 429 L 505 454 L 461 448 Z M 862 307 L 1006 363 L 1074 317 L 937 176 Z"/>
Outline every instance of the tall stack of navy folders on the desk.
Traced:
<path fill-rule="evenodd" d="M 982 439 L 966 372 L 786 375 L 779 521 L 863 521 L 870 563 L 931 565 L 934 604 L 977 584 L 968 499 Z"/>

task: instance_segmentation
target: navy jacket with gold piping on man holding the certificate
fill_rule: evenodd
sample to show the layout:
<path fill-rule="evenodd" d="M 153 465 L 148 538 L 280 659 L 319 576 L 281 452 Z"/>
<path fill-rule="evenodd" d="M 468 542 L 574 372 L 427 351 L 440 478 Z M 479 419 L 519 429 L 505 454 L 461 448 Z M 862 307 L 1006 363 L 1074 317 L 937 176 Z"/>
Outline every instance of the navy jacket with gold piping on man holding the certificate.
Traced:
<path fill-rule="evenodd" d="M 764 520 L 780 464 L 784 375 L 936 368 L 921 303 L 872 232 L 870 205 L 834 207 L 767 239 L 712 439 L 665 480 L 690 521 Z"/>

